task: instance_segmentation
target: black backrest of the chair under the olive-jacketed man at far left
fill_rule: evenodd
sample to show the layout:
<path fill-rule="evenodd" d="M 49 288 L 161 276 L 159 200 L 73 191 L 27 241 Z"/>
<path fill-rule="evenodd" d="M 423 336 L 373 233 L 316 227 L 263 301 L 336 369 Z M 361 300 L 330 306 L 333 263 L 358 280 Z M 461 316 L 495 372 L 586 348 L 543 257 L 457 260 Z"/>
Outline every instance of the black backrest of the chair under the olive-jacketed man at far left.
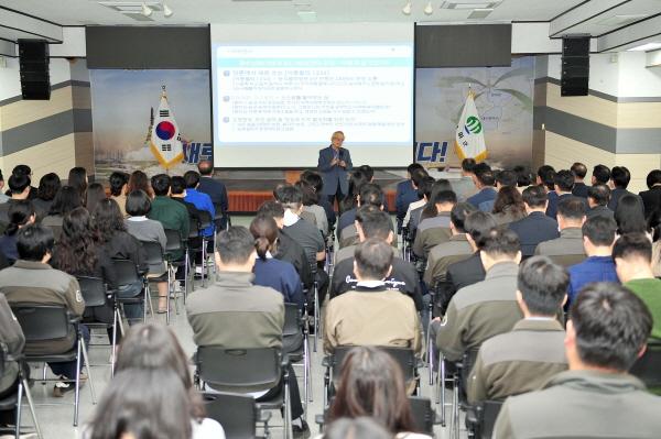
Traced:
<path fill-rule="evenodd" d="M 64 305 L 10 304 L 19 320 L 25 343 L 64 339 L 73 332 Z"/>

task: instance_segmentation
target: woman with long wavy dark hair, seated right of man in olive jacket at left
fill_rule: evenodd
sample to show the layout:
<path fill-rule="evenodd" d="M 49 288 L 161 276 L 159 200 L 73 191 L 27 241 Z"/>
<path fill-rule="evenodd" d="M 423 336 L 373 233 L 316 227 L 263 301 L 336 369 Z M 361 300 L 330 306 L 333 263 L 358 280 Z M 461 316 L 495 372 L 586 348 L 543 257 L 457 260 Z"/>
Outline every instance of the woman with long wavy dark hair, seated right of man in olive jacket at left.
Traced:
<path fill-rule="evenodd" d="M 62 235 L 53 251 L 51 266 L 76 277 L 98 277 L 108 289 L 116 289 L 118 286 L 115 265 L 101 245 L 98 233 L 91 226 L 89 212 L 84 207 L 64 216 Z M 113 304 L 107 300 L 105 306 L 86 308 L 83 319 L 112 323 L 113 312 Z M 117 331 L 117 339 L 120 338 L 121 331 Z M 112 343 L 112 328 L 108 328 L 108 340 Z"/>

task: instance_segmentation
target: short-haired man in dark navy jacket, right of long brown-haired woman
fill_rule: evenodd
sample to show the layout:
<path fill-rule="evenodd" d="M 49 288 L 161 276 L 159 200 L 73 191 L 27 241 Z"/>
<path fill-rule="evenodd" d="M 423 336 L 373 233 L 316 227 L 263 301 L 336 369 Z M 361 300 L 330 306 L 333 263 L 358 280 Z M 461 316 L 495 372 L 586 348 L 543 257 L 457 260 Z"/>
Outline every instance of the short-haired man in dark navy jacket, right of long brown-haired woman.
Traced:
<path fill-rule="evenodd" d="M 523 202 L 528 216 L 511 222 L 509 229 L 517 233 L 521 242 L 523 257 L 534 254 L 540 242 L 560 237 L 557 221 L 545 215 L 549 199 L 541 186 L 531 186 L 523 190 Z"/>

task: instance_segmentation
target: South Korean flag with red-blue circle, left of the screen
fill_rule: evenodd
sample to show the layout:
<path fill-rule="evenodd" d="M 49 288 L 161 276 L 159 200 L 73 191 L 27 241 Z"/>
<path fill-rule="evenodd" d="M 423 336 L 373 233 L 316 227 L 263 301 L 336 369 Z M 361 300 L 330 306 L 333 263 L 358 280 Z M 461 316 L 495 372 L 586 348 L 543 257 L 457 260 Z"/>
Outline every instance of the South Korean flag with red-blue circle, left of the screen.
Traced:
<path fill-rule="evenodd" d="M 161 95 L 159 112 L 154 119 L 150 150 L 161 166 L 169 169 L 184 160 L 184 149 L 174 114 L 167 103 L 165 86 Z"/>

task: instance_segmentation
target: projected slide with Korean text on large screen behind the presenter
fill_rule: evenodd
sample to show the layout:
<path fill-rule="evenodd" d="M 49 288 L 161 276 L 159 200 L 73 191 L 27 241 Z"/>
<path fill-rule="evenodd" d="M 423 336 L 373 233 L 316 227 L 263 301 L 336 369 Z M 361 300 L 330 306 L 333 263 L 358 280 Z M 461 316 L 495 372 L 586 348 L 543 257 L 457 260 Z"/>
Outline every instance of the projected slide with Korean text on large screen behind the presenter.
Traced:
<path fill-rule="evenodd" d="M 317 37 L 304 41 L 258 26 L 262 40 L 223 32 L 235 35 L 227 42 L 212 26 L 216 166 L 314 167 L 338 130 L 356 165 L 411 162 L 410 24 L 394 37 L 377 32 L 370 39 L 362 25 L 343 26 L 342 37 L 328 37 L 337 29 L 314 26 Z"/>

